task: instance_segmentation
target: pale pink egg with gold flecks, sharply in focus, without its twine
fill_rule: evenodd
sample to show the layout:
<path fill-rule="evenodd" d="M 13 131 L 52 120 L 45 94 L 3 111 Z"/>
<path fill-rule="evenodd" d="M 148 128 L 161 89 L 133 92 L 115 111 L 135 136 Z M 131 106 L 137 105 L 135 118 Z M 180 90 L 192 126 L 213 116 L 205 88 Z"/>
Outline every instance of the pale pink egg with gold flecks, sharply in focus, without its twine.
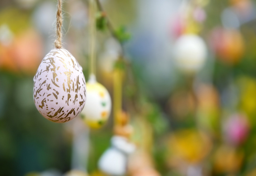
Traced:
<path fill-rule="evenodd" d="M 53 49 L 34 76 L 37 110 L 52 122 L 74 119 L 84 108 L 86 84 L 82 67 L 65 49 Z"/>

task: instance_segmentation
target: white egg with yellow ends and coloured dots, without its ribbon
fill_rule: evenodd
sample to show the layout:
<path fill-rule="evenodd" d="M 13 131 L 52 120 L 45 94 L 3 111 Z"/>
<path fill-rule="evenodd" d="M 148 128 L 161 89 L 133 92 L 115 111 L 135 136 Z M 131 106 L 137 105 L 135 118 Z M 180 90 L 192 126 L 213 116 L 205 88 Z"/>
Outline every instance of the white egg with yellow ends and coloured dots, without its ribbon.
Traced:
<path fill-rule="evenodd" d="M 90 76 L 87 84 L 86 106 L 81 112 L 85 124 L 91 128 L 100 128 L 104 125 L 111 112 L 111 98 L 108 90 Z"/>

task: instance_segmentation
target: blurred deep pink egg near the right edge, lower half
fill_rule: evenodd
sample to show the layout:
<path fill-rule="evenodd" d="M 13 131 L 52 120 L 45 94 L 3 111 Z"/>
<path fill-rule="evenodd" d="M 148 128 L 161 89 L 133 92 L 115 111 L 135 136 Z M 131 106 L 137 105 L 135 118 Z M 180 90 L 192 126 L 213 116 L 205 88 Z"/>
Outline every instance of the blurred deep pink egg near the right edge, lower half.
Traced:
<path fill-rule="evenodd" d="M 240 145 L 245 142 L 249 134 L 249 122 L 242 114 L 230 116 L 224 124 L 225 138 L 231 144 Z"/>

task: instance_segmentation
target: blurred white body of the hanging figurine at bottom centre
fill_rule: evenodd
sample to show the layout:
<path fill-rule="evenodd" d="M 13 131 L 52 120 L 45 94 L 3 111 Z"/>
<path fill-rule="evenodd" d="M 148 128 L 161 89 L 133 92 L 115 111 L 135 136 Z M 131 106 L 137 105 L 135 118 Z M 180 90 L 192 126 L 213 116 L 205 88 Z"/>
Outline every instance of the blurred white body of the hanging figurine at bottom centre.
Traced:
<path fill-rule="evenodd" d="M 99 168 L 102 172 L 109 175 L 124 175 L 126 173 L 128 156 L 135 151 L 136 147 L 122 136 L 113 136 L 111 144 L 111 148 L 100 157 Z"/>

